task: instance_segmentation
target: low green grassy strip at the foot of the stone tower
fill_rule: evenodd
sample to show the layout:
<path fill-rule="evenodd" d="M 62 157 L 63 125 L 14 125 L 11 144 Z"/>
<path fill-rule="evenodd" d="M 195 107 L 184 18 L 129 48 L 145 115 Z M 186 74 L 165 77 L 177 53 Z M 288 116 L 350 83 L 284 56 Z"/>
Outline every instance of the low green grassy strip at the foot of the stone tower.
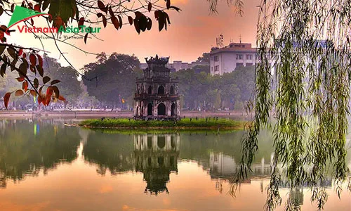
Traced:
<path fill-rule="evenodd" d="M 180 121 L 157 121 L 157 120 L 128 120 L 128 119 L 105 119 L 84 120 L 79 123 L 82 127 L 94 128 L 117 128 L 117 129 L 244 129 L 245 122 L 239 122 L 223 118 L 183 118 Z"/>

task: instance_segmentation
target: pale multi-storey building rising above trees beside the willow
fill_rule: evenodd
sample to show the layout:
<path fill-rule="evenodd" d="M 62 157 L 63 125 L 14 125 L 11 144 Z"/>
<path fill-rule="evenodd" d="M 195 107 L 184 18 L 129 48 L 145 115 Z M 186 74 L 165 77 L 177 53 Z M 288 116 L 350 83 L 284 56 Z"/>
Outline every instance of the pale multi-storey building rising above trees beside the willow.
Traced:
<path fill-rule="evenodd" d="M 233 72 L 239 66 L 256 64 L 256 49 L 249 43 L 231 43 L 223 48 L 213 48 L 210 52 L 211 75 Z"/>

